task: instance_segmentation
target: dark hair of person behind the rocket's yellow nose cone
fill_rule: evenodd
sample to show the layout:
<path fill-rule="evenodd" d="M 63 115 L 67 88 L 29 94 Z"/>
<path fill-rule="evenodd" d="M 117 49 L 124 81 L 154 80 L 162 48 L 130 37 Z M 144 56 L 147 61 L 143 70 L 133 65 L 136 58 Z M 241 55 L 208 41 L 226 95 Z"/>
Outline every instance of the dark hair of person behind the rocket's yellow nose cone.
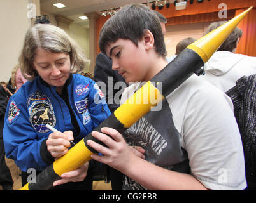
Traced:
<path fill-rule="evenodd" d="M 205 34 L 208 34 L 208 32 L 211 32 L 212 30 L 217 29 L 217 27 L 220 27 L 220 25 L 223 25 L 226 22 L 227 21 L 212 22 L 208 26 L 208 29 L 206 30 Z M 217 51 L 231 51 L 232 52 L 232 50 L 234 48 L 236 48 L 238 38 L 241 37 L 242 35 L 243 35 L 243 31 L 241 29 L 239 29 L 238 27 L 236 27 L 236 29 L 234 29 L 233 32 L 231 32 L 229 37 L 227 37 L 227 39 L 224 41 L 224 43 L 222 43 L 222 45 L 220 46 L 220 48 L 218 48 Z"/>

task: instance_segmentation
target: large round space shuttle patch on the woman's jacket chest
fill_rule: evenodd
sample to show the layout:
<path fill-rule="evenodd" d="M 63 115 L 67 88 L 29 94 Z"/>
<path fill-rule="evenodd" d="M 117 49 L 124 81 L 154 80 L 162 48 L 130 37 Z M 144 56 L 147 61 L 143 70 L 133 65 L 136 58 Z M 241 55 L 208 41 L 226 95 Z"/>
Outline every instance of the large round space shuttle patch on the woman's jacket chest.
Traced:
<path fill-rule="evenodd" d="M 54 127 L 56 124 L 56 117 L 49 108 L 39 108 L 32 112 L 29 117 L 32 127 L 39 133 L 46 133 L 50 131 L 46 124 Z"/>

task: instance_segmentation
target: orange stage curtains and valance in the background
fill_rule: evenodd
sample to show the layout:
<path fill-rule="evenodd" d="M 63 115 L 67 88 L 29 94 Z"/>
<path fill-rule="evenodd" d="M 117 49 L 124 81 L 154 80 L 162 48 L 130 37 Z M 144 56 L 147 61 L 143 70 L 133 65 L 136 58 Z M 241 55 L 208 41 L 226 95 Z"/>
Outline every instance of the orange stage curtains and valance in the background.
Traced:
<path fill-rule="evenodd" d="M 220 4 L 225 4 L 227 7 L 227 19 L 218 18 L 218 12 L 223 9 L 222 7 L 218 8 Z M 174 4 L 171 4 L 169 8 L 164 6 L 162 10 L 159 10 L 158 8 L 156 8 L 156 10 L 167 18 L 166 25 L 178 25 L 186 23 L 229 20 L 250 6 L 256 7 L 256 0 L 205 0 L 203 3 L 197 3 L 197 1 L 194 1 L 193 4 L 190 4 L 189 1 L 187 1 L 187 8 L 185 10 L 175 10 Z M 244 34 L 243 37 L 241 37 L 242 39 L 239 43 L 238 52 L 249 56 L 255 56 L 255 48 L 253 49 L 252 45 L 254 44 L 252 42 L 255 40 L 255 35 L 253 35 L 253 32 L 255 33 L 256 29 L 255 17 L 255 8 L 253 8 L 249 12 L 248 16 L 246 16 L 246 19 L 244 19 L 239 25 L 243 27 L 242 29 Z M 108 20 L 108 18 L 110 18 L 110 16 L 100 16 L 97 20 L 97 41 L 99 41 L 99 32 L 101 27 L 104 25 L 106 20 Z M 247 30 L 250 30 L 250 32 Z M 97 54 L 99 52 L 99 45 L 97 43 Z"/>

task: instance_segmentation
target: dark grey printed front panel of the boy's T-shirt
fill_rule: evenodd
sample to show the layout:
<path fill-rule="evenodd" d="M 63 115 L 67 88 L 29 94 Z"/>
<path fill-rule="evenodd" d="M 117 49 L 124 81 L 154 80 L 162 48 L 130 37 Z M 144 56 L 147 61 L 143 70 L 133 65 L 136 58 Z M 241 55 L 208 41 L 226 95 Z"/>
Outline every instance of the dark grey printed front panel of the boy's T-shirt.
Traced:
<path fill-rule="evenodd" d="M 180 133 L 173 122 L 173 115 L 167 100 L 162 110 L 151 111 L 128 128 L 123 136 L 128 145 L 145 149 L 145 160 L 165 169 L 187 171 L 187 152 L 180 145 Z M 184 164 L 182 164 L 184 162 Z M 123 190 L 146 190 L 136 181 L 125 176 Z"/>

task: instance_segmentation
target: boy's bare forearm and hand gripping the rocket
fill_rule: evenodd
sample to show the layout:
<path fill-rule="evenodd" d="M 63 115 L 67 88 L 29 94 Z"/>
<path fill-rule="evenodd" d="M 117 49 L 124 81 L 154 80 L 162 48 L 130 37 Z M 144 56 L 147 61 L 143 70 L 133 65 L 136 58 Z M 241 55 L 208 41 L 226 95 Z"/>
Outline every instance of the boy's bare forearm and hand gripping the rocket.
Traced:
<path fill-rule="evenodd" d="M 149 190 L 206 190 L 190 174 L 169 171 L 137 157 L 115 129 L 102 128 L 101 131 L 104 134 L 93 131 L 92 136 L 103 141 L 108 148 L 88 140 L 87 144 L 90 147 L 104 154 L 104 156 L 92 155 L 92 159 L 114 167 Z"/>

